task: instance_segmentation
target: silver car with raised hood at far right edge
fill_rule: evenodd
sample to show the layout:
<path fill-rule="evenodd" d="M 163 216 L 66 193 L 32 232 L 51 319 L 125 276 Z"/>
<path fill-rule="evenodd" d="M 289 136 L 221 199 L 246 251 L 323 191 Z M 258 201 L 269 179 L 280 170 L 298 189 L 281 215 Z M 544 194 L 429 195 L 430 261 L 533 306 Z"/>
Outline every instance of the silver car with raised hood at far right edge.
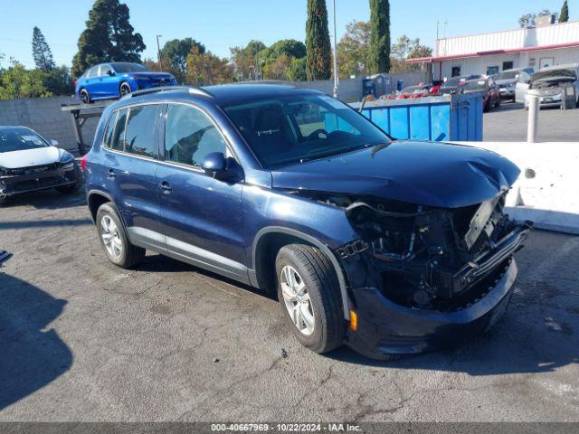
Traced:
<path fill-rule="evenodd" d="M 579 107 L 579 63 L 554 66 L 535 72 L 531 76 L 525 94 L 525 108 L 531 96 L 539 98 L 544 107 L 562 107 L 568 95 L 573 99 L 572 106 Z"/>

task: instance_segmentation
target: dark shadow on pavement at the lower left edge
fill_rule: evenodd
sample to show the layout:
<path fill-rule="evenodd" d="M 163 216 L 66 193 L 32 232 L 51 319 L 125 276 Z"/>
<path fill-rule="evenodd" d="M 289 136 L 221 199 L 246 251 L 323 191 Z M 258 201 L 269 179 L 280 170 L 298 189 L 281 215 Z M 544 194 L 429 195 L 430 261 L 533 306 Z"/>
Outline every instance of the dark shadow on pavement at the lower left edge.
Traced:
<path fill-rule="evenodd" d="M 72 353 L 49 326 L 66 301 L 1 272 L 0 300 L 2 410 L 68 371 Z"/>

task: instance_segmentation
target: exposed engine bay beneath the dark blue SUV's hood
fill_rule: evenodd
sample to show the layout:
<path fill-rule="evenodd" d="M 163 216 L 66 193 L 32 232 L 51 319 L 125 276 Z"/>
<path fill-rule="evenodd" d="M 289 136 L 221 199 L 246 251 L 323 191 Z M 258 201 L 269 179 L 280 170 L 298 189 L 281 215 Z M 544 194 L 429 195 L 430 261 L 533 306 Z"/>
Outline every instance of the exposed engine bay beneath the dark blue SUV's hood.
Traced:
<path fill-rule="evenodd" d="M 337 250 L 348 275 L 360 277 L 353 288 L 381 288 L 405 307 L 454 311 L 489 292 L 527 236 L 530 223 L 503 212 L 506 193 L 456 209 L 310 194 L 343 208 L 363 235 Z"/>

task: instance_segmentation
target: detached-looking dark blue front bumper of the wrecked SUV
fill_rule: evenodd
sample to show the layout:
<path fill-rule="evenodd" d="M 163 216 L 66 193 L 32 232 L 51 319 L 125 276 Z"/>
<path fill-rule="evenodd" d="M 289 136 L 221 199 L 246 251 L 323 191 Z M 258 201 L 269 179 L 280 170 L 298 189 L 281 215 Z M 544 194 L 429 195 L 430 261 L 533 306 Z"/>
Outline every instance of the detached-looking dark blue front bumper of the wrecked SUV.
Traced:
<path fill-rule="evenodd" d="M 486 331 L 507 310 L 517 278 L 512 255 L 528 231 L 528 227 L 519 228 L 492 254 L 480 258 L 478 267 L 457 273 L 457 278 L 484 275 L 484 280 L 473 284 L 484 284 L 484 288 L 474 292 L 470 302 L 450 311 L 403 307 L 384 297 L 378 288 L 353 289 L 357 330 L 348 330 L 346 344 L 368 357 L 384 359 L 388 354 L 418 354 L 459 344 Z"/>

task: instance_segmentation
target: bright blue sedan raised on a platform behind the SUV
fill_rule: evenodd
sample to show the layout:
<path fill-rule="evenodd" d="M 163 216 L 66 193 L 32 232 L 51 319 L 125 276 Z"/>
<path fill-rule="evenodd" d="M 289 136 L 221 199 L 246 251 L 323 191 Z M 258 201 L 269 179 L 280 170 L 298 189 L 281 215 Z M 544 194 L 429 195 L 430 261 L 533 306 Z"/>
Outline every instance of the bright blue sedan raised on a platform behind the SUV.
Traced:
<path fill-rule="evenodd" d="M 84 104 L 97 99 L 120 98 L 135 90 L 176 84 L 172 74 L 149 71 L 139 63 L 126 61 L 95 65 L 74 82 L 76 96 Z"/>

